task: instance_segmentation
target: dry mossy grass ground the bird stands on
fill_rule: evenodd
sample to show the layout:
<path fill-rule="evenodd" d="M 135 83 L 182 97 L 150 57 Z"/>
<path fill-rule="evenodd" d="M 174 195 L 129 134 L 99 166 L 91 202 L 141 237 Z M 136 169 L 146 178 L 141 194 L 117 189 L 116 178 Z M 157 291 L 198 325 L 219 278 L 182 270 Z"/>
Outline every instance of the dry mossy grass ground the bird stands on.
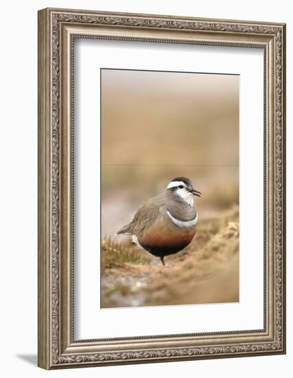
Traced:
<path fill-rule="evenodd" d="M 238 219 L 237 207 L 203 219 L 194 241 L 167 256 L 165 267 L 129 243 L 107 239 L 102 252 L 103 307 L 131 306 L 133 298 L 139 298 L 139 305 L 237 302 Z"/>

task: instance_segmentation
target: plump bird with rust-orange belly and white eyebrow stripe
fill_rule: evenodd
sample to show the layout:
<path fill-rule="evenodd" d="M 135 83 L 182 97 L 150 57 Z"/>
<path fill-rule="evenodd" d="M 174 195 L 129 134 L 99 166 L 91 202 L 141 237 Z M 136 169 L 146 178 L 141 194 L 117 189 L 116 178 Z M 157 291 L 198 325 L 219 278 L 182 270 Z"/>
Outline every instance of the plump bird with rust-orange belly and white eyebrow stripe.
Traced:
<path fill-rule="evenodd" d="M 194 195 L 201 197 L 202 193 L 194 189 L 191 179 L 175 177 L 165 192 L 145 201 L 117 234 L 131 235 L 133 243 L 165 265 L 165 256 L 180 252 L 196 234 Z"/>

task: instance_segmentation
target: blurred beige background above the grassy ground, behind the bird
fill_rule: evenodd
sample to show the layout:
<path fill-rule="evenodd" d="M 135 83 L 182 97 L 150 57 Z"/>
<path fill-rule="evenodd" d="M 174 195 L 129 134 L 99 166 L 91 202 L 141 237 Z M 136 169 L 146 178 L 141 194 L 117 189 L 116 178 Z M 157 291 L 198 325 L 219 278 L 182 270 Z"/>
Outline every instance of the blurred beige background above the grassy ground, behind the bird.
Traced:
<path fill-rule="evenodd" d="M 102 236 L 176 176 L 200 218 L 238 203 L 239 76 L 102 69 Z"/>

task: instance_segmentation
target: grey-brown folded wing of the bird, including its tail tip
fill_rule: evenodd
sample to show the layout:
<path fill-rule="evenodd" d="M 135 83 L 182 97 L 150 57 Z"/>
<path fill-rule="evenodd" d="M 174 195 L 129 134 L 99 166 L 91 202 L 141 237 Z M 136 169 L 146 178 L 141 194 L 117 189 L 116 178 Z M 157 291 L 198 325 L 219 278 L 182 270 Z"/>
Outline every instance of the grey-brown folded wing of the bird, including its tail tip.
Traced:
<path fill-rule="evenodd" d="M 162 194 L 149 199 L 134 214 L 134 218 L 128 225 L 117 232 L 117 234 L 131 234 L 141 236 L 145 230 L 156 220 L 163 207 L 164 197 Z"/>

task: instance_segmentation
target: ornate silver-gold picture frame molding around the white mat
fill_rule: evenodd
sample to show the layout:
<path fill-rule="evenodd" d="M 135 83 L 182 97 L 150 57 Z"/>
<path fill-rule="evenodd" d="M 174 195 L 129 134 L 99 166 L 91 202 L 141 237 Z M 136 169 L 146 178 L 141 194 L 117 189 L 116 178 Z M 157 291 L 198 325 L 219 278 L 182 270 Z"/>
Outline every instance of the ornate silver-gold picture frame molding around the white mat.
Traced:
<path fill-rule="evenodd" d="M 74 340 L 74 38 L 263 49 L 264 327 Z M 252 135 L 253 137 L 253 135 Z M 38 12 L 38 366 L 45 369 L 285 353 L 285 24 L 50 9 Z"/>

